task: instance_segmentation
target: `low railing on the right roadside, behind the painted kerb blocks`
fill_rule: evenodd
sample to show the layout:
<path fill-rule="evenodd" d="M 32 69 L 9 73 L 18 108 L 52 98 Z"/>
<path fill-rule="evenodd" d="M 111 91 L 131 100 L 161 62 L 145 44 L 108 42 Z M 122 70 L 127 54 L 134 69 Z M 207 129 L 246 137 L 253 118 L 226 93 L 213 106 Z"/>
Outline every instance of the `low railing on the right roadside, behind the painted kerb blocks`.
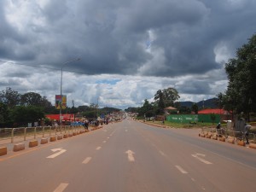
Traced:
<path fill-rule="evenodd" d="M 227 128 L 221 128 L 219 133 L 215 127 L 202 127 L 201 133 L 211 132 L 212 134 L 221 135 L 223 137 L 235 137 L 236 140 L 246 141 L 245 134 L 242 131 L 229 130 Z M 248 140 L 251 143 L 256 143 L 256 134 L 249 133 Z"/>

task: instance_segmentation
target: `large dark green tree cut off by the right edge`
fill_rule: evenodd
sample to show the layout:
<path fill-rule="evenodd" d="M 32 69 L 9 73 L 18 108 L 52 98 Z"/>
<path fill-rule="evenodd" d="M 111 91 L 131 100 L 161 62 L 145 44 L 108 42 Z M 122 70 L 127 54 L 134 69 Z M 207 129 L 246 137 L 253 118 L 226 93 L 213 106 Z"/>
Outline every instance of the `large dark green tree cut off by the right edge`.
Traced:
<path fill-rule="evenodd" d="M 224 107 L 236 113 L 255 112 L 256 107 L 256 34 L 236 51 L 236 58 L 225 64 L 229 84 L 225 91 Z"/>

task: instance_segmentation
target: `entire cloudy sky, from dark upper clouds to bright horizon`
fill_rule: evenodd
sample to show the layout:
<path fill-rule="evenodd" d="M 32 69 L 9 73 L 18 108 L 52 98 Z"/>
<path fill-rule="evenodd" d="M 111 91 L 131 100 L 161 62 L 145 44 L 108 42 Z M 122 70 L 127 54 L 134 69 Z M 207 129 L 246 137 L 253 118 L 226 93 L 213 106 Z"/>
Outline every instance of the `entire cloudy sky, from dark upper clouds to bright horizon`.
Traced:
<path fill-rule="evenodd" d="M 255 34 L 255 10 L 255 0 L 1 0 L 0 90 L 54 104 L 62 67 L 70 107 L 138 107 L 168 87 L 180 101 L 209 99 Z"/>

